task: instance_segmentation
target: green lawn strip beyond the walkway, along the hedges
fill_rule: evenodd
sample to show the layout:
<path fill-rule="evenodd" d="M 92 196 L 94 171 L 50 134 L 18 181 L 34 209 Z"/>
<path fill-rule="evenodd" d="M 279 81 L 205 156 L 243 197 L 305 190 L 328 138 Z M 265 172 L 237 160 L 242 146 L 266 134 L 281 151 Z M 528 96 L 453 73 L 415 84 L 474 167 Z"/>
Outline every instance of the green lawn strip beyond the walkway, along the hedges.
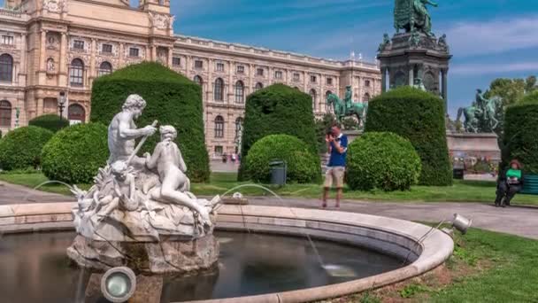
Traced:
<path fill-rule="evenodd" d="M 40 183 L 47 181 L 47 178 L 39 173 L 33 174 L 0 174 L 0 180 L 24 185 L 34 188 Z M 232 173 L 214 173 L 211 175 L 210 183 L 194 183 L 192 190 L 196 195 L 215 195 L 223 194 L 238 185 L 247 185 L 247 183 L 238 183 L 236 175 Z M 87 189 L 88 184 L 79 184 L 82 189 Z M 301 198 L 319 198 L 321 187 L 319 184 L 288 184 L 282 188 L 268 186 L 282 197 L 301 197 Z M 60 184 L 47 184 L 41 190 L 69 194 L 69 190 Z M 243 195 L 261 196 L 267 195 L 265 190 L 243 187 L 238 190 Z M 409 191 L 384 192 L 381 190 L 373 191 L 354 191 L 345 189 L 344 198 L 360 199 L 370 201 L 402 201 L 402 202 L 485 202 L 493 203 L 495 200 L 495 183 L 479 181 L 460 181 L 455 180 L 454 185 L 450 187 L 441 186 L 413 186 Z M 538 197 L 530 195 L 517 195 L 513 200 L 514 204 L 521 205 L 538 205 Z"/>

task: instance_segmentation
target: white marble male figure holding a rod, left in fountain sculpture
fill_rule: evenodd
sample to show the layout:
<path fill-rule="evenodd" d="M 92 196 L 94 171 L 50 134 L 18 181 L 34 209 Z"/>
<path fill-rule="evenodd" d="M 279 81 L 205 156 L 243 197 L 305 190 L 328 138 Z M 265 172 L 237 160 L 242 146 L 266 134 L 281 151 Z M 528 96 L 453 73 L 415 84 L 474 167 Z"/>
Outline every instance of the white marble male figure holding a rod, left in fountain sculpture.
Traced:
<path fill-rule="evenodd" d="M 121 107 L 121 112 L 116 114 L 108 126 L 108 149 L 111 153 L 108 164 L 118 160 L 127 160 L 135 151 L 135 139 L 141 136 L 152 136 L 157 131 L 150 125 L 145 128 L 136 128 L 135 119 L 138 119 L 146 107 L 146 101 L 138 96 L 127 97 Z M 143 159 L 135 157 L 129 165 L 141 167 Z"/>

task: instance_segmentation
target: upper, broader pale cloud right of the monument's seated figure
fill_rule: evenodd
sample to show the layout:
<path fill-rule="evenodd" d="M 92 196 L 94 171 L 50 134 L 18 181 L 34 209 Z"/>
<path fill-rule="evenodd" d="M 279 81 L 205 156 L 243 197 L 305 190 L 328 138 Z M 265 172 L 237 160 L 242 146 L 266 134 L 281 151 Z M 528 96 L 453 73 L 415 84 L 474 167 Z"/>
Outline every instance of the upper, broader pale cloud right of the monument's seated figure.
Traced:
<path fill-rule="evenodd" d="M 538 47 L 538 15 L 461 22 L 446 30 L 457 57 L 489 55 Z"/>

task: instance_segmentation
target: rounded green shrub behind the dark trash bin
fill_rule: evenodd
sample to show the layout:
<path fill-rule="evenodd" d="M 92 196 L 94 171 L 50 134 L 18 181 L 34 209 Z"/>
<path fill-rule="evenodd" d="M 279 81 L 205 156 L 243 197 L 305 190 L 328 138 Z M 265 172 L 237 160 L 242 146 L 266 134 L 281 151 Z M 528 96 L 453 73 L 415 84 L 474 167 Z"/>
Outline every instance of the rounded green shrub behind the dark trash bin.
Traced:
<path fill-rule="evenodd" d="M 273 160 L 286 162 L 288 182 L 319 182 L 319 157 L 311 151 L 311 146 L 295 136 L 270 135 L 253 144 L 245 159 L 250 178 L 255 182 L 268 183 L 271 180 L 269 163 Z"/>

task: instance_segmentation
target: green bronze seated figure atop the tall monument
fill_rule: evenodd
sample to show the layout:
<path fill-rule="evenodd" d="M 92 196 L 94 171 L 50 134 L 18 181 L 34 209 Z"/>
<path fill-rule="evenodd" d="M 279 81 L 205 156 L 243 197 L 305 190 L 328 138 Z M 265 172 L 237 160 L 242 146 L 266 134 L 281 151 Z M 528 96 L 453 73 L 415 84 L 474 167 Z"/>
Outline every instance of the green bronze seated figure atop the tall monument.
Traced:
<path fill-rule="evenodd" d="M 437 7 L 430 0 L 395 0 L 394 27 L 396 33 L 404 29 L 407 33 L 419 31 L 432 36 L 432 19 L 427 5 Z"/>

